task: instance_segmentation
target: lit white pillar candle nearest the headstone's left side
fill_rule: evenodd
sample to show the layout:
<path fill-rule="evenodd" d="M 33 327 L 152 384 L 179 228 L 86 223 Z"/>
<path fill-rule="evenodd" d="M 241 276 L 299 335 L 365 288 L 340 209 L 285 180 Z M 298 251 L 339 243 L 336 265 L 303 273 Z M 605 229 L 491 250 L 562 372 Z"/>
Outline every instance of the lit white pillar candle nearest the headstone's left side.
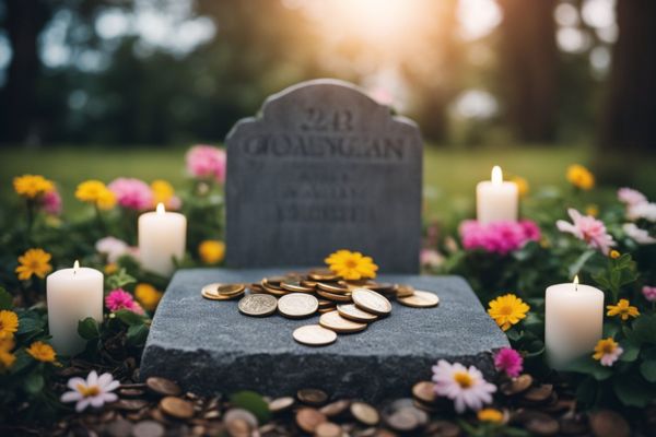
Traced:
<path fill-rule="evenodd" d="M 168 276 L 183 259 L 187 240 L 187 218 L 177 212 L 164 211 L 162 203 L 155 212 L 139 216 L 139 259 L 144 270 Z"/>

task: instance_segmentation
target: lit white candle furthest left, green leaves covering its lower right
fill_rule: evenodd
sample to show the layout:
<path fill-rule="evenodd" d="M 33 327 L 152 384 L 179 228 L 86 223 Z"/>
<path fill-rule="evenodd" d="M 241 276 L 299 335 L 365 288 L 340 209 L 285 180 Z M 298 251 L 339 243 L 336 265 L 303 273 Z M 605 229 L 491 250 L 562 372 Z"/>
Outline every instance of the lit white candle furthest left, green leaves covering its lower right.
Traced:
<path fill-rule="evenodd" d="M 48 327 L 52 346 L 58 354 L 74 355 L 84 350 L 85 341 L 78 335 L 78 322 L 93 317 L 103 321 L 103 273 L 81 268 L 58 270 L 46 280 Z"/>

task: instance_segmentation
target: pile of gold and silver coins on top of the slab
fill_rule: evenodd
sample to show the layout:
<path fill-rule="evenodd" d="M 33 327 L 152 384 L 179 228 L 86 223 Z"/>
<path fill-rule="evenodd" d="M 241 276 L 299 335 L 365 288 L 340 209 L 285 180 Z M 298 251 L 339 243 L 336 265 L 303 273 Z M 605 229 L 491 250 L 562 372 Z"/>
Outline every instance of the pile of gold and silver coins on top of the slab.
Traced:
<path fill-rule="evenodd" d="M 293 332 L 295 341 L 311 346 L 331 344 L 338 333 L 363 331 L 368 323 L 391 314 L 390 300 L 414 308 L 440 304 L 434 293 L 410 285 L 348 281 L 328 269 L 263 277 L 253 284 L 208 284 L 201 295 L 211 300 L 241 298 L 239 311 L 251 317 L 278 311 L 290 319 L 302 319 L 318 312 L 318 324 L 303 326 Z"/>

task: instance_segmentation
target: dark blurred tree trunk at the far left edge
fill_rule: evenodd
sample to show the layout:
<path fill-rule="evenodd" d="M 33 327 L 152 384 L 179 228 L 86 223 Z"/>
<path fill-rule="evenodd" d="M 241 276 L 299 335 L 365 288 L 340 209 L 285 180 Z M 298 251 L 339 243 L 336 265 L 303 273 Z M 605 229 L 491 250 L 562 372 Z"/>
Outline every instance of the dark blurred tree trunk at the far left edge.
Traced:
<path fill-rule="evenodd" d="M 50 15 L 40 0 L 7 0 L 5 27 L 12 50 L 2 90 L 0 142 L 24 142 L 36 122 L 40 61 L 37 38 Z"/>

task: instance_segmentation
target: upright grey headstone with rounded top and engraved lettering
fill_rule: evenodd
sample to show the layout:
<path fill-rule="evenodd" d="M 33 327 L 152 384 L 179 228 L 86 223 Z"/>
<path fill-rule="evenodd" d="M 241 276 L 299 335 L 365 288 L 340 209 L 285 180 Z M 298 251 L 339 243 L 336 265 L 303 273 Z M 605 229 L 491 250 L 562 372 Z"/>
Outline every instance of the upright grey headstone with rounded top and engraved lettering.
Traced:
<path fill-rule="evenodd" d="M 417 273 L 423 143 L 358 87 L 304 82 L 226 138 L 226 263 L 316 265 L 337 249 Z"/>

